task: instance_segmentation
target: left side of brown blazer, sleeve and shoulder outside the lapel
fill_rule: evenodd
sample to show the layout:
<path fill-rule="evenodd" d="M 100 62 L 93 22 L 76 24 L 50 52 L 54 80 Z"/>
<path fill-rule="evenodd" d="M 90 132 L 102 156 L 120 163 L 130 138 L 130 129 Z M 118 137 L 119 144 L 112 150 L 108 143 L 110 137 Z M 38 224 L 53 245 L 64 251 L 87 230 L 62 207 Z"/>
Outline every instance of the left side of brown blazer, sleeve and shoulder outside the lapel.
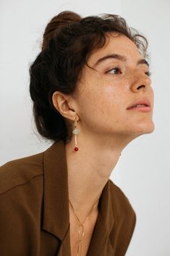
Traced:
<path fill-rule="evenodd" d="M 41 169 L 20 160 L 0 167 L 0 255 L 54 255 L 59 241 L 42 230 L 42 207 Z"/>

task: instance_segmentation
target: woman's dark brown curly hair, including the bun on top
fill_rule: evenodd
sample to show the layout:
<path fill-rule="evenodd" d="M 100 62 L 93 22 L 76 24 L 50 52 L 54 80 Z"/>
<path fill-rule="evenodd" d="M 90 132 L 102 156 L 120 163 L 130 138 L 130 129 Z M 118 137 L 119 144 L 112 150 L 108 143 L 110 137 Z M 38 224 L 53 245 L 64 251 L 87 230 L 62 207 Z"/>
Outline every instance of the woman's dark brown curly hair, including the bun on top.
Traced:
<path fill-rule="evenodd" d="M 148 41 L 119 15 L 103 14 L 82 18 L 75 12 L 61 12 L 46 26 L 41 52 L 30 65 L 30 96 L 35 124 L 41 136 L 51 141 L 72 138 L 72 125 L 54 107 L 54 91 L 73 94 L 88 57 L 106 43 L 108 33 L 131 39 L 148 57 Z"/>

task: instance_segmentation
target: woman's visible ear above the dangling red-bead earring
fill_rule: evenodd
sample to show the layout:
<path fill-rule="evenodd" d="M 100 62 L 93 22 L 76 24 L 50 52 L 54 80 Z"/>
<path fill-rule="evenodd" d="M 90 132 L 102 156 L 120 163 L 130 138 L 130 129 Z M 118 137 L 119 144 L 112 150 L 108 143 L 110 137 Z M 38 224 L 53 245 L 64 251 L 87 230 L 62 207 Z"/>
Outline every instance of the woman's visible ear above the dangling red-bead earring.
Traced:
<path fill-rule="evenodd" d="M 70 95 L 63 94 L 61 91 L 54 91 L 52 101 L 54 107 L 60 112 L 61 115 L 72 121 L 75 121 L 76 116 L 77 120 L 79 120 L 77 112 L 74 110 L 74 108 L 72 108 L 72 97 Z"/>

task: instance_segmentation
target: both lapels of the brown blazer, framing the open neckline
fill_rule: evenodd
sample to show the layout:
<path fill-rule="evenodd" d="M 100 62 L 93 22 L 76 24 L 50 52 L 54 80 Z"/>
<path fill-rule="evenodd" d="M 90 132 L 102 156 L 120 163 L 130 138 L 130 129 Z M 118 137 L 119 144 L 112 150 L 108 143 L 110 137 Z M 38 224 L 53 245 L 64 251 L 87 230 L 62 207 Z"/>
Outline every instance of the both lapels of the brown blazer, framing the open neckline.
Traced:
<path fill-rule="evenodd" d="M 44 202 L 43 229 L 57 236 L 63 246 L 60 248 L 64 255 L 64 247 L 69 242 L 69 191 L 67 162 L 64 141 L 60 140 L 49 147 L 43 154 L 44 167 Z M 111 181 L 107 181 L 98 203 L 98 219 L 90 241 L 88 254 L 95 255 L 93 248 L 98 244 L 98 252 L 107 250 L 107 256 L 113 255 L 109 242 L 109 234 L 114 226 L 114 210 L 111 199 Z M 100 242 L 99 242 L 100 241 Z M 101 243 L 103 241 L 103 243 Z M 64 245 L 65 244 L 65 245 Z M 93 244 L 95 246 L 93 246 Z M 68 249 L 69 244 L 67 244 Z M 101 251 L 100 251 L 101 249 Z M 61 252 L 62 251 L 62 252 Z M 68 252 L 68 251 L 67 251 Z"/>

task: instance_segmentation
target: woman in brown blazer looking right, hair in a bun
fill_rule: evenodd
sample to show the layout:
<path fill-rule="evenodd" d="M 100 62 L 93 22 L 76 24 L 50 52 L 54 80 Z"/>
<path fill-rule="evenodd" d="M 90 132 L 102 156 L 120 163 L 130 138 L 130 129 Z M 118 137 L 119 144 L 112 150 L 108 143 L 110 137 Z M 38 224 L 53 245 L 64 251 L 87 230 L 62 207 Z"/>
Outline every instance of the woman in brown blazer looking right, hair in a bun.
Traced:
<path fill-rule="evenodd" d="M 48 23 L 30 96 L 54 144 L 1 166 L 1 255 L 125 255 L 136 215 L 109 176 L 124 147 L 154 130 L 146 50 L 118 15 Z"/>

